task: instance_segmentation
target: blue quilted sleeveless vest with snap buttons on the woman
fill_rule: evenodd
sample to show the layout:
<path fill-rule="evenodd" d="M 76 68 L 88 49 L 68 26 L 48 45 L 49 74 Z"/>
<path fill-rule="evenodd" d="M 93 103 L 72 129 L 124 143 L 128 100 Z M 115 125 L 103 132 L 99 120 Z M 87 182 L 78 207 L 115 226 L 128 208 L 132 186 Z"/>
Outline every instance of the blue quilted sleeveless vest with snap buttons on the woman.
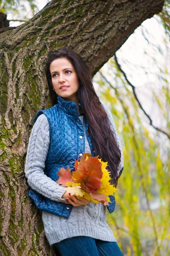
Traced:
<path fill-rule="evenodd" d="M 81 107 L 81 104 L 78 103 Z M 34 118 L 34 123 L 42 113 L 48 118 L 50 128 L 50 145 L 48 155 L 45 160 L 45 175 L 56 181 L 60 168 L 66 169 L 68 166 L 71 173 L 74 171 L 74 163 L 77 158 L 81 158 L 85 153 L 85 137 L 82 122 L 76 103 L 68 101 L 58 96 L 58 104 L 52 108 L 41 110 Z M 91 148 L 92 156 L 95 156 L 91 138 L 88 133 L 88 119 L 85 117 L 86 134 Z M 35 190 L 28 192 L 29 197 L 34 201 L 38 209 L 50 212 L 55 215 L 68 218 L 73 206 L 69 207 L 65 203 L 52 201 Z M 115 197 L 110 195 L 111 203 L 107 205 L 109 212 L 115 208 Z"/>

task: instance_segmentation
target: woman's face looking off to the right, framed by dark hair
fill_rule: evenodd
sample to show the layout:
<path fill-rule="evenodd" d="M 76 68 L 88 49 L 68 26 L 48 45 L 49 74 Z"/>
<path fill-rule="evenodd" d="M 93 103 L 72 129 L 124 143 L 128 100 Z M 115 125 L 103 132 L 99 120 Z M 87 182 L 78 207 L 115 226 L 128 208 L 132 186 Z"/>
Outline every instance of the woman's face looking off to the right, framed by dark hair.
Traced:
<path fill-rule="evenodd" d="M 79 79 L 71 62 L 66 58 L 52 61 L 50 73 L 55 92 L 65 99 L 78 103 Z"/>

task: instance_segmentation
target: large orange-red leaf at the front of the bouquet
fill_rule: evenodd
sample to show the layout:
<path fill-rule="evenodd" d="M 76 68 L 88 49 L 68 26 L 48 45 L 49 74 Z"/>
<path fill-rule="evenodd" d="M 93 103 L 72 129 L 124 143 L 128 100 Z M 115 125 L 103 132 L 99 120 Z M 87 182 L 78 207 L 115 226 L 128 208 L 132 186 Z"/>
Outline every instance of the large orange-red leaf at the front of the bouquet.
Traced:
<path fill-rule="evenodd" d="M 82 189 L 84 187 L 85 190 L 86 187 L 93 192 L 94 189 L 98 189 L 102 185 L 100 181 L 103 175 L 102 163 L 98 160 L 99 156 L 89 157 L 88 160 L 85 160 L 87 154 L 83 154 L 82 159 L 77 165 L 77 170 L 72 175 L 76 178 L 77 183 L 82 184 Z M 90 154 L 88 155 L 91 156 Z"/>

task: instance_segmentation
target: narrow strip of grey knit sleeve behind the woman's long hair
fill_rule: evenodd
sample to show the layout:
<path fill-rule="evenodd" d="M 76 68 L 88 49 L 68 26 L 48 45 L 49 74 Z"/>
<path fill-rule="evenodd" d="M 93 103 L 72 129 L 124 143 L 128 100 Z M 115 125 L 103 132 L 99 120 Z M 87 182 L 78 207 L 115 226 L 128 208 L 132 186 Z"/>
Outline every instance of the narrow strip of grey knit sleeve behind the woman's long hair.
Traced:
<path fill-rule="evenodd" d="M 118 178 L 119 178 L 119 177 L 121 176 L 122 171 L 123 171 L 123 168 L 124 168 L 124 157 L 123 157 L 122 145 L 121 145 L 121 142 L 120 142 L 120 140 L 119 140 L 119 135 L 118 135 L 118 133 L 117 133 L 116 125 L 115 125 L 113 116 L 112 116 L 112 114 L 111 114 L 111 111 L 110 111 L 110 109 L 109 109 L 106 105 L 103 104 L 103 106 L 104 106 L 105 111 L 106 111 L 107 114 L 108 114 L 108 118 L 109 118 L 109 120 L 110 120 L 110 122 L 111 122 L 111 129 L 112 129 L 112 131 L 115 131 L 116 140 L 117 140 L 117 143 L 118 143 L 118 145 L 119 145 L 119 149 L 120 149 L 120 151 L 121 151 L 121 161 L 120 161 L 119 169 L 118 169 L 118 171 L 117 171 L 117 173 L 118 173 Z"/>

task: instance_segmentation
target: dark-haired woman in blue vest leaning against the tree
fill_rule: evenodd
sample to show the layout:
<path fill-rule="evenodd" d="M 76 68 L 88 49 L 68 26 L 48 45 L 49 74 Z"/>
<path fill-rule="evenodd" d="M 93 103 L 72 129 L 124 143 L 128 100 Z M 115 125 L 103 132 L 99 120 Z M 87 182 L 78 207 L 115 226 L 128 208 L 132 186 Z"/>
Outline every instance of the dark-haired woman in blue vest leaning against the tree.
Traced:
<path fill-rule="evenodd" d="M 123 153 L 111 116 L 102 105 L 82 58 L 70 49 L 52 52 L 45 67 L 52 108 L 39 111 L 29 138 L 25 175 L 28 195 L 42 209 L 45 236 L 62 256 L 122 256 L 105 221 L 106 206 L 70 195 L 58 185 L 57 172 L 83 153 L 108 161 L 116 187 Z M 114 196 L 107 206 L 114 211 Z"/>

